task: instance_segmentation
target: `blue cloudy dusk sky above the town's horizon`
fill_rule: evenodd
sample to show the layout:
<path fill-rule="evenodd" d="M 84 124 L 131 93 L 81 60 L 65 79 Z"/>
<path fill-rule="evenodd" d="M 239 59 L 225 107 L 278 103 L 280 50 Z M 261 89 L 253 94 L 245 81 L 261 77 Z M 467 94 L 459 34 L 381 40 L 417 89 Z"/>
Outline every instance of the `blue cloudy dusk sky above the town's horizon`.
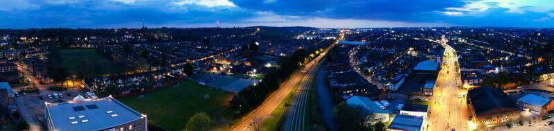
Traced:
<path fill-rule="evenodd" d="M 0 0 L 0 28 L 554 27 L 554 0 Z"/>

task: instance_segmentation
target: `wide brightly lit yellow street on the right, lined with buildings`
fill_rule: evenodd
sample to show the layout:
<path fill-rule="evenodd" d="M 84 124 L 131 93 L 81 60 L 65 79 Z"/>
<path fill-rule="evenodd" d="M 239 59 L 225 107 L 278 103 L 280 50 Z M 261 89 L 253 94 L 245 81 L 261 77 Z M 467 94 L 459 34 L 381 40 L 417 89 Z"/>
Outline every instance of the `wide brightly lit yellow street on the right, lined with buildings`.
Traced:
<path fill-rule="evenodd" d="M 445 36 L 441 38 L 441 45 L 445 46 L 443 61 L 447 64 L 441 64 L 437 78 L 437 85 L 434 96 L 431 97 L 431 107 L 429 111 L 428 126 L 429 130 L 472 130 L 476 128 L 470 124 L 470 110 L 467 107 L 466 99 L 458 98 L 459 94 L 467 94 L 467 91 L 459 87 L 462 86 L 459 70 L 456 69 L 458 60 L 456 51 L 447 44 Z M 427 126 L 427 125 L 426 125 Z"/>

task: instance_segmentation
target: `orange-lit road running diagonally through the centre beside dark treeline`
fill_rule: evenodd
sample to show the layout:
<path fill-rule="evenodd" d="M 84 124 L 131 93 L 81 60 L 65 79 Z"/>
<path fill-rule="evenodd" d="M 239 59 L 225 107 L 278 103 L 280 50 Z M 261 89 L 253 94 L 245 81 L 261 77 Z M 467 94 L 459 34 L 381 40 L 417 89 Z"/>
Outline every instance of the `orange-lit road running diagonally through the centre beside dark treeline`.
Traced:
<path fill-rule="evenodd" d="M 327 54 L 327 52 L 329 51 L 330 48 L 332 48 L 332 46 L 336 45 L 339 40 L 341 40 L 343 35 L 341 35 L 341 37 L 339 37 L 339 39 L 337 39 L 337 42 L 334 42 L 334 44 L 331 44 L 331 46 L 327 47 L 327 49 L 325 49 L 325 51 L 323 51 L 321 53 L 321 55 L 319 55 L 318 57 L 314 58 L 314 60 L 310 61 L 308 64 L 305 64 L 305 67 L 303 70 L 312 70 L 312 67 L 316 66 L 318 67 L 319 64 L 321 64 L 321 59 L 323 59 L 325 57 L 325 55 Z M 271 116 L 271 112 L 273 112 L 274 110 L 276 110 L 276 108 L 278 107 L 278 105 L 285 100 L 285 98 L 291 93 L 292 91 L 292 88 L 294 87 L 294 85 L 298 82 L 300 82 L 300 80 L 303 80 L 306 76 L 306 73 L 304 73 L 305 71 L 296 71 L 295 73 L 293 73 L 291 75 L 291 77 L 289 78 L 289 80 L 286 80 L 285 82 L 283 82 L 279 89 L 277 89 L 276 91 L 274 91 L 273 93 L 271 93 L 271 95 L 269 95 L 265 101 L 256 108 L 256 110 L 253 110 L 252 112 L 250 112 L 249 114 L 247 114 L 246 116 L 244 116 L 237 124 L 235 124 L 233 126 L 233 128 L 231 128 L 231 130 L 253 130 L 252 128 L 250 128 L 251 126 L 251 123 L 254 123 L 256 121 L 263 121 L 265 120 L 268 116 Z M 312 76 L 312 75 L 309 75 L 309 76 Z M 298 88 L 300 88 L 301 86 L 299 86 Z M 300 93 L 298 93 L 300 94 Z M 298 95 L 297 94 L 297 95 Z"/>

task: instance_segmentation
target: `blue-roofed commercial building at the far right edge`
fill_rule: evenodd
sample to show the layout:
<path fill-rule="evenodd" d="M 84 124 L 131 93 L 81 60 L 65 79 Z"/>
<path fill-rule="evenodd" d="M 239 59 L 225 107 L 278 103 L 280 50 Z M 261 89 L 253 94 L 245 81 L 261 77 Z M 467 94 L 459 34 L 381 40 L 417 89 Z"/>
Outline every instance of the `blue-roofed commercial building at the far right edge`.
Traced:
<path fill-rule="evenodd" d="M 548 110 L 552 110 L 554 103 L 552 98 L 539 96 L 536 94 L 527 94 L 517 99 L 517 105 L 524 107 L 529 112 L 544 115 Z"/>

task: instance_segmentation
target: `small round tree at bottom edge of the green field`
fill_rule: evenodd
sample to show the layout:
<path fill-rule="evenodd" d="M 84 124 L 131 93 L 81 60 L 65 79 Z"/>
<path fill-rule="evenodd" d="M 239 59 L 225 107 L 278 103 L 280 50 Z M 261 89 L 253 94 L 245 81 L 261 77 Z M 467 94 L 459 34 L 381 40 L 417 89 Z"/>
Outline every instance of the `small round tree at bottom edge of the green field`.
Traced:
<path fill-rule="evenodd" d="M 209 130 L 212 120 L 206 112 L 196 113 L 195 116 L 190 117 L 186 123 L 186 131 L 204 131 Z"/>

